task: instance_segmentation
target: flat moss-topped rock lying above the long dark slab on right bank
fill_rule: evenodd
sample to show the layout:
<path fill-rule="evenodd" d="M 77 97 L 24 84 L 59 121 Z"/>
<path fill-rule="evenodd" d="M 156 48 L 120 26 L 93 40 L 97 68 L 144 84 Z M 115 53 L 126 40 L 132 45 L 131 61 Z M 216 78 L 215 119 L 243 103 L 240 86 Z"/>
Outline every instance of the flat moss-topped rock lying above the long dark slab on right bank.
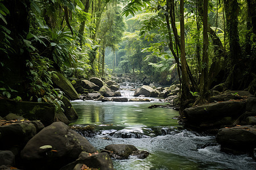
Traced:
<path fill-rule="evenodd" d="M 229 100 L 239 100 L 245 99 L 247 97 L 253 96 L 248 91 L 227 91 L 223 94 L 210 97 L 210 102 L 216 101 L 229 101 Z"/>

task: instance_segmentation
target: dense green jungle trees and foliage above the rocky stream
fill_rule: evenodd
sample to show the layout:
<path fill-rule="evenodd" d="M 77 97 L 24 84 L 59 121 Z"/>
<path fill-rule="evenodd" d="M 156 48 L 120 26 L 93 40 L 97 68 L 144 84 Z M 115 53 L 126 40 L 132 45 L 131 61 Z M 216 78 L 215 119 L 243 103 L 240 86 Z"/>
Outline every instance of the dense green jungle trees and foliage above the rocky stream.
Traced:
<path fill-rule="evenodd" d="M 1 97 L 61 105 L 51 76 L 142 74 L 181 84 L 181 107 L 208 91 L 255 94 L 254 0 L 0 0 Z"/>

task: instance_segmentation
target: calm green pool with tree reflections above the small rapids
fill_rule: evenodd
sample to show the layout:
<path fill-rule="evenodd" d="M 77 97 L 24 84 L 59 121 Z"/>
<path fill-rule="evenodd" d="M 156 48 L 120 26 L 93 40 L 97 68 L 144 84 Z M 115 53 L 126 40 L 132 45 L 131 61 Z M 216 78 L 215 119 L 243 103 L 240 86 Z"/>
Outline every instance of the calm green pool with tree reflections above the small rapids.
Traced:
<path fill-rule="evenodd" d="M 177 125 L 173 117 L 179 113 L 173 109 L 148 109 L 151 104 L 136 102 L 101 102 L 82 101 L 72 102 L 79 114 L 79 119 L 72 124 L 113 124 L 125 127 L 151 127 Z M 161 103 L 163 104 L 163 103 Z"/>

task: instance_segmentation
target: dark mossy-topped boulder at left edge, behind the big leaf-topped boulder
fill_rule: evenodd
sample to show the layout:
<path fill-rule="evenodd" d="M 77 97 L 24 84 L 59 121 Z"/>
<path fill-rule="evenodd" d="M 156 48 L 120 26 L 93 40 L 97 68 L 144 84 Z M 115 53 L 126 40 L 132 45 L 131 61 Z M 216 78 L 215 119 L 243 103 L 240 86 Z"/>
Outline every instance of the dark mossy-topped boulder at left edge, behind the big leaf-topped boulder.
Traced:
<path fill-rule="evenodd" d="M 0 126 L 0 150 L 6 150 L 14 146 L 22 148 L 36 133 L 35 125 L 30 122 Z"/>

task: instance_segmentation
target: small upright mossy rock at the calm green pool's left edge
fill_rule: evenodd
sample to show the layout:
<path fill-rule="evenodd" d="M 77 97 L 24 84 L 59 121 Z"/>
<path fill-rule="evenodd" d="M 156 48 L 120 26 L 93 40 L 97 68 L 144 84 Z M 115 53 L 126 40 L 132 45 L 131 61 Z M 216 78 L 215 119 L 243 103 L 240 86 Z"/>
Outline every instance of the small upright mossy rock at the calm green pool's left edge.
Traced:
<path fill-rule="evenodd" d="M 61 108 L 64 110 L 65 116 L 68 118 L 69 121 L 77 120 L 78 115 L 76 113 L 76 110 L 73 108 L 72 104 L 68 100 L 67 97 L 63 97 L 61 101 L 64 103 L 64 105 L 61 105 Z"/>

